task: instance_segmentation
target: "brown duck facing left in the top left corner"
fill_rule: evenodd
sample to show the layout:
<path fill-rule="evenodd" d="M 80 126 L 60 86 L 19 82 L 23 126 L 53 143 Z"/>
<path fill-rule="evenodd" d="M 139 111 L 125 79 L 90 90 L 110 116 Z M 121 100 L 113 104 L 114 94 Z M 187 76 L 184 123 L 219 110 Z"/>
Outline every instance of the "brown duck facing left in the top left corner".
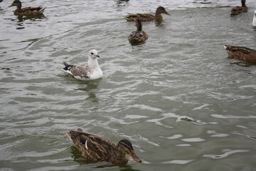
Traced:
<path fill-rule="evenodd" d="M 43 14 L 43 11 L 46 9 L 45 7 L 26 7 L 21 9 L 21 1 L 14 0 L 14 2 L 9 6 L 17 6 L 17 9 L 14 11 L 14 15 L 16 16 L 36 16 Z"/>

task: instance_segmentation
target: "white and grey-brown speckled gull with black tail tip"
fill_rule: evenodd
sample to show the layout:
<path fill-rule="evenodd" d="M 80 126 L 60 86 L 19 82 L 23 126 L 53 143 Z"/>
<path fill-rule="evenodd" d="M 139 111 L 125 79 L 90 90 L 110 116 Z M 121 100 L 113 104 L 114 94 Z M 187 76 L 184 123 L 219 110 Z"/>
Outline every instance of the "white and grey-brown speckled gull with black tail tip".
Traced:
<path fill-rule="evenodd" d="M 65 67 L 63 71 L 70 73 L 72 76 L 78 80 L 87 81 L 87 80 L 96 80 L 102 78 L 103 73 L 97 62 L 97 58 L 100 58 L 97 51 L 92 49 L 89 51 L 88 62 L 85 65 L 73 66 L 68 63 L 63 62 Z"/>

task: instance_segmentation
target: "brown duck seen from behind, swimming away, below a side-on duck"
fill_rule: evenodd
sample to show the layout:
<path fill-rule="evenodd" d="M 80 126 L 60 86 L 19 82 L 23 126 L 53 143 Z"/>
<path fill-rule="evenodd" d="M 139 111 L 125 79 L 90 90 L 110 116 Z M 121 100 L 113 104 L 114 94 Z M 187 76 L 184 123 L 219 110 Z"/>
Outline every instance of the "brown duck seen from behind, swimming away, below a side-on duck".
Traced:
<path fill-rule="evenodd" d="M 142 21 L 136 20 L 137 31 L 132 31 L 128 36 L 129 43 L 144 43 L 149 37 L 145 31 L 142 30 Z"/>

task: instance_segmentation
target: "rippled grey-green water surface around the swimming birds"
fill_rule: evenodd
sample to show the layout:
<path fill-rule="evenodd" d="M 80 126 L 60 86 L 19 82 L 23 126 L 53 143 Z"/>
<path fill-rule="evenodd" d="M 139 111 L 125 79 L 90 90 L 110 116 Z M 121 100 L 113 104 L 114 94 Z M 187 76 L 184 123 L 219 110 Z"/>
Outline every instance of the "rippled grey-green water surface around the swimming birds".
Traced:
<path fill-rule="evenodd" d="M 256 170 L 256 66 L 230 64 L 224 44 L 256 48 L 240 1 L 23 0 L 46 6 L 18 19 L 0 4 L 0 170 Z M 127 13 L 154 14 L 131 46 Z M 104 77 L 78 81 L 63 61 L 97 49 Z M 88 163 L 65 133 L 82 128 L 132 141 L 142 163 Z"/>

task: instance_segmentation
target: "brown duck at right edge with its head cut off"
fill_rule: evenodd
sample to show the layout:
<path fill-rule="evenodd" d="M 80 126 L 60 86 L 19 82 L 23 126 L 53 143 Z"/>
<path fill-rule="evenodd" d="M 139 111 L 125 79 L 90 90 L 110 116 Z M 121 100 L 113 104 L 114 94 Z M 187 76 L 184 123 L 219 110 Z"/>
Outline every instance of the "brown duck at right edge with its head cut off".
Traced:
<path fill-rule="evenodd" d="M 224 48 L 228 51 L 228 57 L 230 58 L 256 63 L 256 51 L 252 48 L 229 45 L 224 45 Z"/>

